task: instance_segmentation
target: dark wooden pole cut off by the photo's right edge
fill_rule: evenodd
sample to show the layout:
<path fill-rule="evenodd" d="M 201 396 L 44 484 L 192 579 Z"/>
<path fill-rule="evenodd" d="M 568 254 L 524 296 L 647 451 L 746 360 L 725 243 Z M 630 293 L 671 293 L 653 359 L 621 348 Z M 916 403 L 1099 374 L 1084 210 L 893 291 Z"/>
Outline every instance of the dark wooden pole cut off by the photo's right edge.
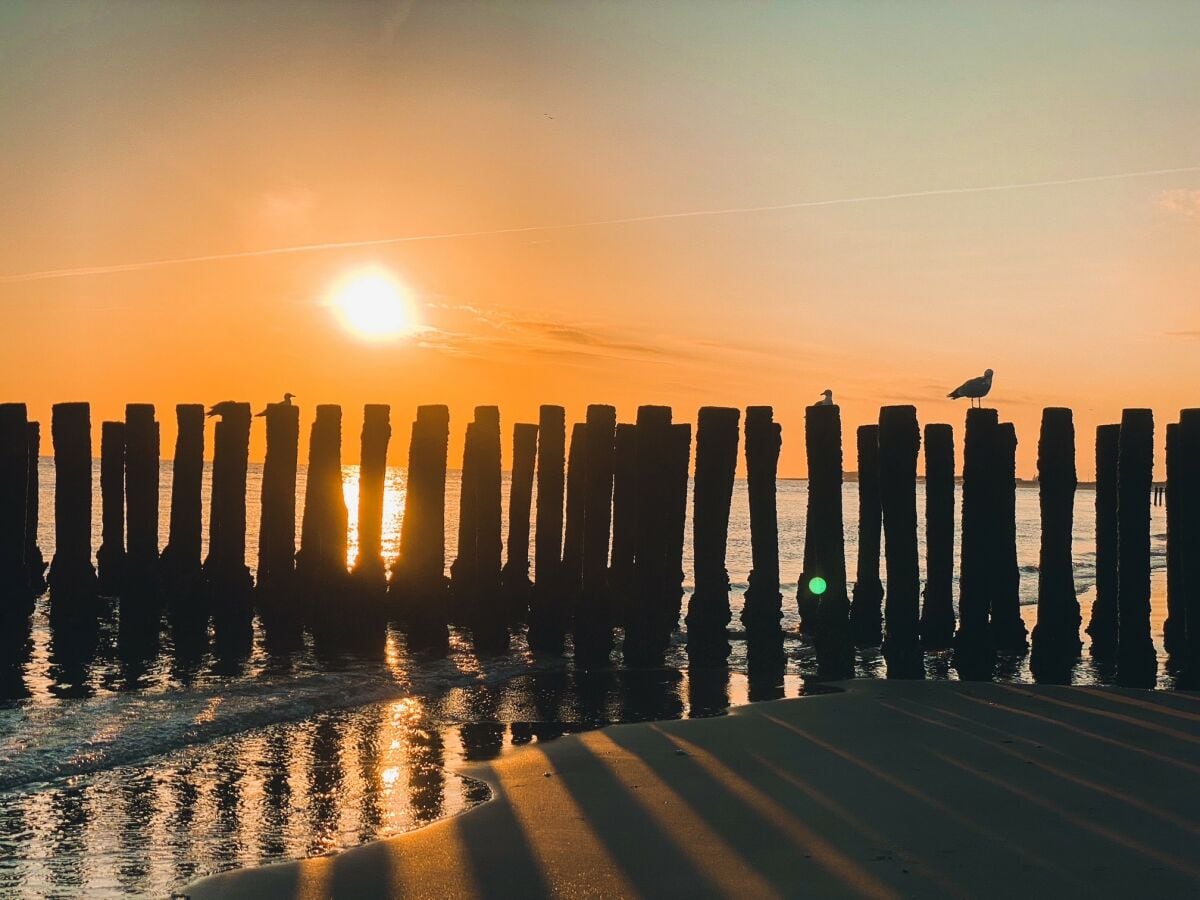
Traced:
<path fill-rule="evenodd" d="M 1200 686 L 1200 409 L 1180 410 L 1178 578 L 1182 588 L 1184 648 L 1180 686 Z"/>

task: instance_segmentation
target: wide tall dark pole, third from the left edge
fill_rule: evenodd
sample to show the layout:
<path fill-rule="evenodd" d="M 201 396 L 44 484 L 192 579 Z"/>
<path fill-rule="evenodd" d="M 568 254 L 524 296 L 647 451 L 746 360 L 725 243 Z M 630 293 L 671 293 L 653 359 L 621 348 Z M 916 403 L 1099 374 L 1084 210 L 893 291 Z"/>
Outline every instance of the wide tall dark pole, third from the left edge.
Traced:
<path fill-rule="evenodd" d="M 91 564 L 91 413 L 86 403 L 55 403 L 50 436 L 54 442 L 54 560 L 50 599 L 55 617 L 95 612 L 96 570 Z M 64 602 L 66 605 L 64 605 Z"/>

